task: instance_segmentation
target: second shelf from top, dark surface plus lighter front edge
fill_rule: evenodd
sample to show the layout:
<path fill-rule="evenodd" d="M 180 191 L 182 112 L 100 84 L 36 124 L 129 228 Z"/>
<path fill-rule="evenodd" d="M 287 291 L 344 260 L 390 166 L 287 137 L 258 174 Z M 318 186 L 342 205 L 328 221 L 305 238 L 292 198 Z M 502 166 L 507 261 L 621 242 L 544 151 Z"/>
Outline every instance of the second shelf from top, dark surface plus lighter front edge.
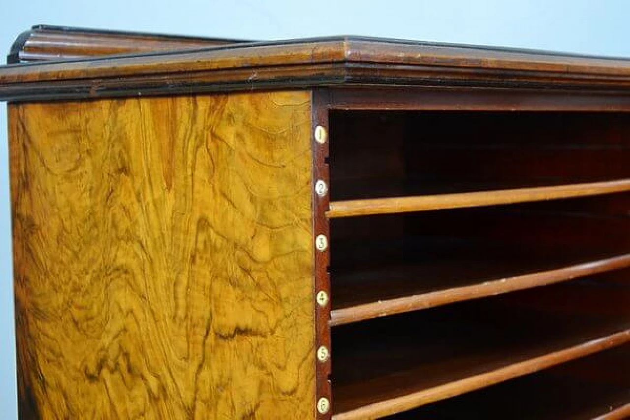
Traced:
<path fill-rule="evenodd" d="M 550 267 L 570 260 L 565 257 L 554 263 L 549 257 L 529 257 L 529 260 L 495 261 L 486 255 L 477 260 L 467 257 L 461 261 L 332 274 L 333 309 L 329 325 L 349 324 L 499 295 L 630 266 L 630 254 L 624 254 L 518 275 L 533 267 Z M 574 260 L 584 260 L 584 257 L 574 257 Z"/>

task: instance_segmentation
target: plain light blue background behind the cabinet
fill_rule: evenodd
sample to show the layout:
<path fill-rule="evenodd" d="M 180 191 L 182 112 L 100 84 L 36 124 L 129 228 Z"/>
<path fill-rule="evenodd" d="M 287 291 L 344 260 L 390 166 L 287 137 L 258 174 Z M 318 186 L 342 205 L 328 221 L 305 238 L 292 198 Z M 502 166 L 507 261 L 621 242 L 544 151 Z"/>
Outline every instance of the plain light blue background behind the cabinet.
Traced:
<path fill-rule="evenodd" d="M 215 37 L 374 35 L 630 56 L 630 1 L 0 0 L 0 55 L 38 23 Z M 0 419 L 17 417 L 6 105 L 0 105 Z"/>

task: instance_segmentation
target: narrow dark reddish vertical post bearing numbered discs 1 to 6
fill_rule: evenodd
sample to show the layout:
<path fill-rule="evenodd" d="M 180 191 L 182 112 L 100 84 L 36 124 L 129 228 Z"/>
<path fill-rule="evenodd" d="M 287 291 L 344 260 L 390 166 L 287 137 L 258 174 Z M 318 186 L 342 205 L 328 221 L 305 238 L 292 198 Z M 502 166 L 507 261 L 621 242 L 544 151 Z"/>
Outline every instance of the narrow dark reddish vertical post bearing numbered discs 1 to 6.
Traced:
<path fill-rule="evenodd" d="M 329 409 L 325 414 L 316 413 L 318 419 L 330 419 L 332 413 L 332 392 L 329 375 L 331 372 L 331 339 L 330 339 L 330 310 L 331 310 L 331 293 L 330 278 L 328 266 L 330 261 L 330 247 L 320 252 L 315 245 L 315 238 L 318 235 L 324 235 L 330 238 L 328 218 L 326 211 L 328 210 L 329 195 L 328 193 L 320 197 L 315 192 L 315 184 L 321 179 L 329 185 L 328 176 L 328 139 L 326 143 L 318 143 L 315 139 L 315 127 L 321 125 L 328 131 L 328 92 L 322 90 L 312 91 L 312 124 L 311 124 L 311 144 L 312 144 L 312 211 L 313 211 L 313 249 L 314 249 L 314 269 L 315 269 L 315 351 L 317 353 L 320 346 L 326 346 L 328 349 L 328 359 L 324 362 L 318 359 L 316 354 L 316 407 L 321 397 L 325 397 L 329 401 Z M 330 241 L 328 241 L 330 242 Z M 324 291 L 328 296 L 328 304 L 321 306 L 317 302 L 317 294 Z"/>

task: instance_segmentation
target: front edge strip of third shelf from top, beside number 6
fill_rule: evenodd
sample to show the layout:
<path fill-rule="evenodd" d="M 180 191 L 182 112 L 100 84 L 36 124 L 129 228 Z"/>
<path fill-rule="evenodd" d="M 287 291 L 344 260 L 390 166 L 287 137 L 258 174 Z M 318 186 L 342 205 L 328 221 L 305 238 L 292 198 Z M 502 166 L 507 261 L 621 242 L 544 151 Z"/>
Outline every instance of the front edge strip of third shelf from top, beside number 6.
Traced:
<path fill-rule="evenodd" d="M 578 359 L 589 354 L 597 353 L 604 349 L 619 346 L 630 342 L 630 329 L 622 330 L 615 334 L 605 335 L 599 339 L 587 341 L 577 346 L 568 347 L 553 353 L 527 359 L 520 363 L 491 370 L 480 375 L 473 375 L 454 382 L 445 383 L 437 387 L 401 395 L 392 399 L 365 405 L 347 412 L 335 414 L 333 420 L 362 420 L 375 419 L 389 416 L 397 412 L 405 411 L 420 405 L 430 404 L 439 400 L 461 395 L 479 388 L 488 387 L 495 383 L 527 375 L 534 371 L 560 365 L 573 359 Z M 604 417 L 609 418 L 609 417 Z M 615 417 L 613 417 L 615 418 Z"/>

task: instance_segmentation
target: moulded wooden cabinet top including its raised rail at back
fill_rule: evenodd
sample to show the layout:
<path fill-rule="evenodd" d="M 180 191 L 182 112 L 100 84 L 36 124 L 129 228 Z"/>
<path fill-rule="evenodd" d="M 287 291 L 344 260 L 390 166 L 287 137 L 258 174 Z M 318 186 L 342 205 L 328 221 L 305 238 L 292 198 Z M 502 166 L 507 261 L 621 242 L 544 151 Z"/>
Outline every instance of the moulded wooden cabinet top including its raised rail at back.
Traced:
<path fill-rule="evenodd" d="M 630 93 L 627 58 L 349 35 L 253 42 L 35 26 L 9 61 L 1 100 L 348 85 Z"/>

